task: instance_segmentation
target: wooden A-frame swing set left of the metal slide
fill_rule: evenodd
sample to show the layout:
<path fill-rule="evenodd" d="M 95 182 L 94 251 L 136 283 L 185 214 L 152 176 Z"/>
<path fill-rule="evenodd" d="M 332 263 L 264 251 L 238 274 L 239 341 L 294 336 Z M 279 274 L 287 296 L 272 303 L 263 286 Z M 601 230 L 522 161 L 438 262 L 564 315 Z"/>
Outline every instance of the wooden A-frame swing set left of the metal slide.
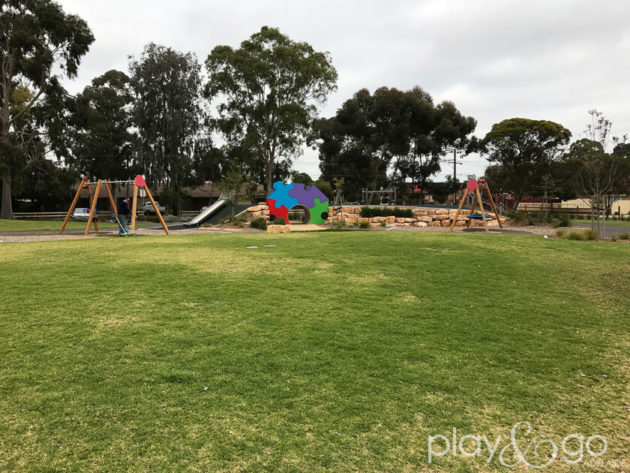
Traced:
<path fill-rule="evenodd" d="M 116 206 L 116 202 L 114 201 L 114 196 L 112 195 L 112 190 L 109 187 L 109 185 L 110 184 L 132 184 L 132 183 L 133 183 L 133 199 L 132 199 L 132 204 L 131 204 L 131 230 L 129 230 L 120 223 L 120 219 L 118 218 L 118 209 Z M 93 186 L 94 186 L 94 189 L 93 189 Z M 142 177 L 140 174 L 138 174 L 134 180 L 127 180 L 127 181 L 110 181 L 108 179 L 99 179 L 96 182 L 90 182 L 90 180 L 87 178 L 81 179 L 81 183 L 79 184 L 77 193 L 75 194 L 74 199 L 72 200 L 72 204 L 70 204 L 70 209 L 68 210 L 68 213 L 66 214 L 66 218 L 64 219 L 63 224 L 61 225 L 61 230 L 59 231 L 59 233 L 63 233 L 63 231 L 66 229 L 66 225 L 68 224 L 68 220 L 70 220 L 70 217 L 72 216 L 72 212 L 74 211 L 74 208 L 77 205 L 77 202 L 81 195 L 81 191 L 85 188 L 88 189 L 88 192 L 90 195 L 90 215 L 88 217 L 88 222 L 85 227 L 84 234 L 85 235 L 90 234 L 90 227 L 92 226 L 92 224 L 94 224 L 94 230 L 98 231 L 98 223 L 94 219 L 94 216 L 96 214 L 96 204 L 98 202 L 98 196 L 100 195 L 100 192 L 101 192 L 101 186 L 105 187 L 105 191 L 107 192 L 107 197 L 109 198 L 109 203 L 111 204 L 112 209 L 114 210 L 116 222 L 118 222 L 118 226 L 121 229 L 121 234 L 123 234 L 123 236 L 132 236 L 132 235 L 129 235 L 129 233 L 133 233 L 133 235 L 135 235 L 134 232 L 136 230 L 136 210 L 138 208 L 138 188 L 140 187 L 144 188 L 145 192 L 147 193 L 147 197 L 151 201 L 151 204 L 153 205 L 153 209 L 155 210 L 155 215 L 158 216 L 158 219 L 160 220 L 160 223 L 162 224 L 162 228 L 164 228 L 164 233 L 166 233 L 167 235 L 170 234 L 168 227 L 166 226 L 166 222 L 162 218 L 160 209 L 155 203 L 155 200 L 153 199 L 153 196 L 151 195 L 151 191 L 149 190 L 149 187 L 147 186 L 147 183 L 145 182 L 144 177 Z"/>

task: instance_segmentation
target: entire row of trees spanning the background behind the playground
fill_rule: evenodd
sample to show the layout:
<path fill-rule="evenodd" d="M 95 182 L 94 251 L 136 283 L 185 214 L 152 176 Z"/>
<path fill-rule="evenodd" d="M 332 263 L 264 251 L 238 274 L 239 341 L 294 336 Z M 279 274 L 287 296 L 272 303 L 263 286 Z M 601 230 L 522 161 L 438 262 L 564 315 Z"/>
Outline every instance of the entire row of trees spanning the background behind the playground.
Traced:
<path fill-rule="evenodd" d="M 431 183 L 452 151 L 486 156 L 493 189 L 516 203 L 553 189 L 609 206 L 628 191 L 629 145 L 610 136 L 596 111 L 588 138 L 570 147 L 562 125 L 523 118 L 497 123 L 478 140 L 474 118 L 452 102 L 435 104 L 419 87 L 362 89 L 333 117 L 317 119 L 336 88 L 330 56 L 268 27 L 237 49 L 215 47 L 205 67 L 194 54 L 149 44 L 128 71 L 108 71 L 73 97 L 61 81 L 76 75 L 94 41 L 83 20 L 51 0 L 9 0 L 0 26 L 2 218 L 12 216 L 15 196 L 67 200 L 78 175 L 142 173 L 175 210 L 187 185 L 210 181 L 253 194 L 289 176 L 308 183 L 291 172 L 307 143 L 319 150 L 318 185 L 348 200 L 366 187 L 452 193 L 459 187 L 452 177 Z"/>

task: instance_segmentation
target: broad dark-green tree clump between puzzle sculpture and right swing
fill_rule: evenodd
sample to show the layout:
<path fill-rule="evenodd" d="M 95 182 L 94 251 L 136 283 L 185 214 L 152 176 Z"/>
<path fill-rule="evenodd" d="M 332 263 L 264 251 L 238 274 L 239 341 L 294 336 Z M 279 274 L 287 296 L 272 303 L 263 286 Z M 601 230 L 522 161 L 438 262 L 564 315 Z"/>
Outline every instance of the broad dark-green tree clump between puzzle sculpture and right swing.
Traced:
<path fill-rule="evenodd" d="M 351 199 L 358 199 L 363 187 L 386 185 L 390 167 L 392 179 L 424 185 L 440 170 L 446 148 L 465 147 L 475 126 L 452 102 L 435 106 L 420 87 L 381 87 L 374 94 L 362 89 L 334 117 L 317 122 L 322 176 L 344 177 Z"/>

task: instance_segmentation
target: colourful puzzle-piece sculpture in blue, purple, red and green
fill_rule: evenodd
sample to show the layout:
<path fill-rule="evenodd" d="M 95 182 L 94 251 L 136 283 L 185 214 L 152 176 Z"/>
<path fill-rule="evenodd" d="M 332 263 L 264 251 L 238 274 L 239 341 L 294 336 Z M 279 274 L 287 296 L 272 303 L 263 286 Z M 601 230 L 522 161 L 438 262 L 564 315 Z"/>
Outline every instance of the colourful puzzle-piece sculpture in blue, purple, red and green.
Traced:
<path fill-rule="evenodd" d="M 269 219 L 284 219 L 289 223 L 289 210 L 296 205 L 308 209 L 309 218 L 306 223 L 326 223 L 328 219 L 328 197 L 315 186 L 304 184 L 285 184 L 274 182 L 273 192 L 267 196 Z"/>

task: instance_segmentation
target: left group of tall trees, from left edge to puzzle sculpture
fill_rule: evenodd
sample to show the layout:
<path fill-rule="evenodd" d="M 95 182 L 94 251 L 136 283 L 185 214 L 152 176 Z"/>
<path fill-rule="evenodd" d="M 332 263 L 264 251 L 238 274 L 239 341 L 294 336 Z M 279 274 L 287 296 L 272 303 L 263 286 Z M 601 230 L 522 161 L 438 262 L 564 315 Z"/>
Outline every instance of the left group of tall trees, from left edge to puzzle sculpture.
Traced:
<path fill-rule="evenodd" d="M 235 174 L 271 192 L 336 88 L 327 53 L 263 27 L 240 48 L 215 47 L 205 68 L 149 44 L 127 72 L 108 71 L 72 97 L 61 81 L 76 76 L 94 41 L 88 25 L 51 0 L 2 2 L 0 25 L 2 218 L 16 195 L 65 199 L 79 174 L 143 173 L 174 209 L 183 186 Z"/>

